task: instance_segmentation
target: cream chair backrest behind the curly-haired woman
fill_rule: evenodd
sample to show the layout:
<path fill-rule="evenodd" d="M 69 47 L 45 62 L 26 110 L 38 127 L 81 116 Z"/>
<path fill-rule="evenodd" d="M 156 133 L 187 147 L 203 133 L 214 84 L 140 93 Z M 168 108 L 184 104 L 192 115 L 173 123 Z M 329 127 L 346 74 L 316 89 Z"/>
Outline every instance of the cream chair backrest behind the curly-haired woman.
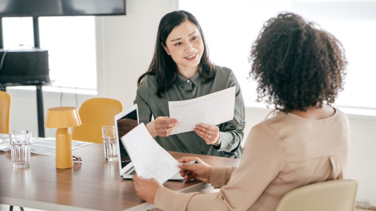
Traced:
<path fill-rule="evenodd" d="M 291 190 L 276 211 L 353 211 L 358 183 L 332 180 Z"/>

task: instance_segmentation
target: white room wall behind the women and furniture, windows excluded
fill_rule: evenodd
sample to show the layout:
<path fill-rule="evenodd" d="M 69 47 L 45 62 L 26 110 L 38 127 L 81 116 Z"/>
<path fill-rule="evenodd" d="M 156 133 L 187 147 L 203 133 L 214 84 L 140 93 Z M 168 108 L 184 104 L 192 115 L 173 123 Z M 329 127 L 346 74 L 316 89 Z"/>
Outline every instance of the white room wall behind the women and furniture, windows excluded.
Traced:
<path fill-rule="evenodd" d="M 127 0 L 127 15 L 97 17 L 98 96 L 133 105 L 138 77 L 152 58 L 158 23 L 167 12 L 178 8 L 176 0 Z M 10 129 L 31 129 L 37 135 L 35 91 L 8 90 L 12 97 Z M 78 95 L 78 106 L 93 95 Z M 73 94 L 64 94 L 64 106 L 75 106 Z M 60 93 L 44 92 L 47 108 L 60 106 Z M 246 131 L 262 121 L 266 108 L 246 108 Z M 376 118 L 351 115 L 352 151 L 349 178 L 358 180 L 358 201 L 376 206 Z M 55 129 L 46 129 L 54 136 Z"/>

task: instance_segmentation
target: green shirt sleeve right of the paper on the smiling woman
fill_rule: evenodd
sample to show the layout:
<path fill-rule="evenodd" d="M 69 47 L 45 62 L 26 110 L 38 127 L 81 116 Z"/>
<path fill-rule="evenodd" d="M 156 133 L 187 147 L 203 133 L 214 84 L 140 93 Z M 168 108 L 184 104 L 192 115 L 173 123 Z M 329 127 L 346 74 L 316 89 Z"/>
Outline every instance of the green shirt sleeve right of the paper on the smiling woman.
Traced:
<path fill-rule="evenodd" d="M 231 121 L 224 123 L 223 130 L 221 130 L 221 144 L 218 146 L 218 151 L 235 152 L 240 148 L 241 140 L 244 136 L 245 127 L 245 108 L 244 100 L 241 94 L 240 85 L 238 84 L 234 73 L 231 71 L 228 88 L 236 86 L 235 90 L 235 111 L 234 118 Z"/>

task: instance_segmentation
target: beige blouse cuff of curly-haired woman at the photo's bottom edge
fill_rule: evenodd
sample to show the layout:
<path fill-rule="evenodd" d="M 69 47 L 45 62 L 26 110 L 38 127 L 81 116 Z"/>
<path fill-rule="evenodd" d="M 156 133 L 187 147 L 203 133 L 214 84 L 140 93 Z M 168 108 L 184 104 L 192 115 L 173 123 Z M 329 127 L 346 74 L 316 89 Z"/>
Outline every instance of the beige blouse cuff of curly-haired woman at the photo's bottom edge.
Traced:
<path fill-rule="evenodd" d="M 164 211 L 185 211 L 190 198 L 199 192 L 180 193 L 161 186 L 154 198 L 154 206 Z"/>

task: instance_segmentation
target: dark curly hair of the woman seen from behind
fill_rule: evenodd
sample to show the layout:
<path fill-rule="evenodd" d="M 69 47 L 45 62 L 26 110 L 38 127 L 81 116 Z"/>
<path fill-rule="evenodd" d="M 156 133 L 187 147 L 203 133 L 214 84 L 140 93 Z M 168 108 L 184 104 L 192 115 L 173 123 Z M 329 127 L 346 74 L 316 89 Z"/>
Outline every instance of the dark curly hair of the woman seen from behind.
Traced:
<path fill-rule="evenodd" d="M 315 25 L 293 13 L 264 23 L 249 57 L 258 102 L 284 112 L 334 103 L 347 73 L 345 50 Z"/>

